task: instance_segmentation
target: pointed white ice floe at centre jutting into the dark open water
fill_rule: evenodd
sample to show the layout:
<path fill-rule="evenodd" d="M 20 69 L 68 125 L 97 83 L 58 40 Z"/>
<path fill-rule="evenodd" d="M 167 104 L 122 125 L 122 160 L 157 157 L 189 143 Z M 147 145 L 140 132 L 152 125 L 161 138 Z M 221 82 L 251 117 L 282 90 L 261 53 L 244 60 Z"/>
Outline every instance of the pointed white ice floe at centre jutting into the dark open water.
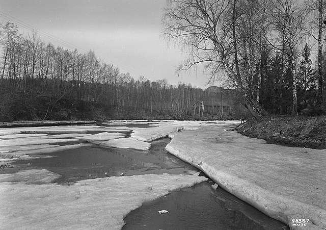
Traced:
<path fill-rule="evenodd" d="M 151 143 L 140 141 L 131 137 L 119 138 L 108 141 L 96 141 L 94 142 L 99 145 L 115 148 L 132 148 L 137 150 L 148 150 L 151 147 Z"/>

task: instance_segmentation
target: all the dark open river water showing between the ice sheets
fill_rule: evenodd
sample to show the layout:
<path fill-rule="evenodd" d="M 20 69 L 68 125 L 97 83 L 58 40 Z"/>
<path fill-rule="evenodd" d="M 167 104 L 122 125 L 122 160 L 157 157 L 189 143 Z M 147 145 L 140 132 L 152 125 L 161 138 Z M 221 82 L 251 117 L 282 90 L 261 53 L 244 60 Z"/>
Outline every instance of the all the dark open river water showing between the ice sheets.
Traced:
<path fill-rule="evenodd" d="M 151 129 L 148 124 L 127 126 Z M 14 161 L 13 168 L 2 169 L 0 173 L 47 169 L 61 175 L 53 183 L 71 185 L 106 176 L 194 174 L 199 171 L 169 154 L 165 150 L 169 142 L 169 138 L 152 141 L 148 151 L 93 144 L 47 154 L 52 158 Z M 200 175 L 206 176 L 202 172 Z M 269 218 L 222 188 L 213 189 L 213 184 L 209 180 L 147 201 L 125 216 L 123 229 L 288 229 L 284 223 Z M 159 210 L 169 213 L 159 214 Z"/>

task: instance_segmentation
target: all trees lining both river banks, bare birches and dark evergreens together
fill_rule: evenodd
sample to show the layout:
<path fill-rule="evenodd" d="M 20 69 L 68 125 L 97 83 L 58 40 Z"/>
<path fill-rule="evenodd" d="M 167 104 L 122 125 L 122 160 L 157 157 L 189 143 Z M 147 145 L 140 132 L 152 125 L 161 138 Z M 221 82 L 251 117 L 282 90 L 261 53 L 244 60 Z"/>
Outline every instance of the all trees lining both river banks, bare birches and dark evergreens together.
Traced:
<path fill-rule="evenodd" d="M 326 109 L 322 0 L 168 1 L 163 34 L 227 89 L 151 82 L 35 31 L 0 30 L 0 120 L 231 119 Z M 311 55 L 318 47 L 318 55 Z M 315 64 L 313 64 L 313 61 Z"/>

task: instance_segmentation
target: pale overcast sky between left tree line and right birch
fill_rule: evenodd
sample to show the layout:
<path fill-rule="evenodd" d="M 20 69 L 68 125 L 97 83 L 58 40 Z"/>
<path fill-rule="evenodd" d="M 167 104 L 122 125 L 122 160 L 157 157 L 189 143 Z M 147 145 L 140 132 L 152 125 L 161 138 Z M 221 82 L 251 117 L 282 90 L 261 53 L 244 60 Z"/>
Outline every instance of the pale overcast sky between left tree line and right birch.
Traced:
<path fill-rule="evenodd" d="M 176 67 L 185 55 L 179 47 L 168 47 L 159 36 L 165 6 L 166 0 L 0 0 L 0 11 L 5 14 L 76 47 L 92 49 L 135 79 L 145 75 L 152 81 L 165 78 L 172 84 L 185 82 L 205 88 L 207 78 L 202 71 L 177 76 Z"/>

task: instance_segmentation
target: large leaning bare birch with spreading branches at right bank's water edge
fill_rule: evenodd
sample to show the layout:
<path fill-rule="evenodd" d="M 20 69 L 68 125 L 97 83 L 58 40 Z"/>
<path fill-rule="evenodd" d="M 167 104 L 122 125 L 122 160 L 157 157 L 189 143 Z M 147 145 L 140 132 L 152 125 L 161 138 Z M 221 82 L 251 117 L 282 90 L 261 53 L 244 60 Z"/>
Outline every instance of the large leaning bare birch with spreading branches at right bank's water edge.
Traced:
<path fill-rule="evenodd" d="M 245 96 L 245 104 L 254 116 L 268 113 L 259 105 L 250 89 L 252 73 L 246 72 L 250 65 L 245 55 L 248 53 L 247 42 L 239 36 L 239 20 L 247 12 L 246 5 L 258 3 L 254 0 L 170 0 L 162 18 L 163 34 L 166 39 L 185 45 L 189 58 L 180 69 L 189 69 L 199 63 L 205 63 L 212 76 L 221 69 Z M 259 12 L 251 11 L 258 15 Z M 249 17 L 248 17 L 249 19 Z M 255 19 L 252 18 L 252 22 Z M 254 24 L 254 23 L 252 23 Z M 253 38 L 255 39 L 255 38 Z M 239 42 L 241 41 L 241 45 Z M 249 43 L 249 42 L 248 42 Z M 252 42 L 255 47 L 255 42 Z M 246 46 L 246 47 L 245 47 Z M 246 52 L 240 51 L 246 50 Z M 242 66 L 241 66 L 242 64 Z M 241 68 L 242 67 L 242 68 Z"/>

